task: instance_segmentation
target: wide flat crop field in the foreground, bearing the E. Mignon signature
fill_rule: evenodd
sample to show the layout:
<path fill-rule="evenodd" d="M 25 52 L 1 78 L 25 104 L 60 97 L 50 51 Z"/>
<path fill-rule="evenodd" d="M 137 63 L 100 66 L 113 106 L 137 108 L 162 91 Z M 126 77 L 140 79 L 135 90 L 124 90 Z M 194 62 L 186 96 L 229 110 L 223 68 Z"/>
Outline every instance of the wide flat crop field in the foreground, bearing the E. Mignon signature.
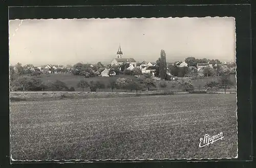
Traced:
<path fill-rule="evenodd" d="M 168 95 L 11 102 L 18 160 L 237 156 L 236 95 Z M 199 148 L 199 139 L 224 138 Z"/>

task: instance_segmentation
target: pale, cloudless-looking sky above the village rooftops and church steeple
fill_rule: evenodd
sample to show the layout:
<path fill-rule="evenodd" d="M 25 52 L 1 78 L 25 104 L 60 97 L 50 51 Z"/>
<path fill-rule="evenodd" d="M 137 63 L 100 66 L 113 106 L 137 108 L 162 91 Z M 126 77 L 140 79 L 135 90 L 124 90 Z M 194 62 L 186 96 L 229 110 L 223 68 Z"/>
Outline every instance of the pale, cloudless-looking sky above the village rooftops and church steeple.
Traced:
<path fill-rule="evenodd" d="M 9 60 L 33 65 L 111 63 L 119 44 L 123 58 L 155 62 L 187 57 L 235 61 L 232 17 L 26 19 L 9 21 Z"/>

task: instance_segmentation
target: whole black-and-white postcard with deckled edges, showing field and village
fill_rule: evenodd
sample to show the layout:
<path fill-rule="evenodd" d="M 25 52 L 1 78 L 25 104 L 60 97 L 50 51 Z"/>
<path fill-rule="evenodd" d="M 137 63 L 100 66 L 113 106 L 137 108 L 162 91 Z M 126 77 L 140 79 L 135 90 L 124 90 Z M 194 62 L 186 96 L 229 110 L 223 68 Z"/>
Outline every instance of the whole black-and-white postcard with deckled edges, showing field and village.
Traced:
<path fill-rule="evenodd" d="M 238 158 L 234 17 L 9 20 L 12 161 Z"/>

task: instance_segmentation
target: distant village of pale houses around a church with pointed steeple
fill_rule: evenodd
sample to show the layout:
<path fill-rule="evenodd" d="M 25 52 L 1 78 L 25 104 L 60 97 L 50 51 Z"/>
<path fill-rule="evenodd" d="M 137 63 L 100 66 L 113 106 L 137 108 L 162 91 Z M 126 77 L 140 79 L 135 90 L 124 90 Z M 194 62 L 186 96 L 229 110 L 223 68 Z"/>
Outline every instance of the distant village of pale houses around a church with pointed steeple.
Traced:
<path fill-rule="evenodd" d="M 186 72 L 193 71 L 194 75 L 195 72 L 200 72 L 200 70 L 205 70 L 207 68 L 210 68 L 212 70 L 218 69 L 220 67 L 230 68 L 230 71 L 235 71 L 236 64 L 233 62 L 220 62 L 219 60 L 206 60 L 202 59 L 203 62 L 196 63 L 194 65 L 189 65 L 189 63 L 186 63 L 186 60 L 184 61 L 176 61 L 174 63 L 166 63 L 166 74 L 169 76 L 178 76 L 172 73 L 172 68 L 186 68 Z M 134 69 L 140 70 L 141 74 L 152 74 L 155 79 L 159 79 L 156 77 L 155 73 L 157 71 L 157 63 L 156 62 L 136 62 L 134 58 L 125 58 L 123 57 L 123 52 L 121 50 L 121 46 L 119 45 L 116 58 L 112 60 L 110 64 L 102 64 L 101 62 L 98 62 L 97 64 L 82 64 L 77 63 L 75 65 L 41 65 L 41 66 L 34 66 L 31 64 L 23 66 L 23 71 L 26 74 L 50 74 L 50 73 L 72 73 L 77 74 L 76 71 L 81 73 L 79 71 L 79 67 L 82 65 L 85 65 L 87 68 L 90 68 L 93 73 L 93 76 L 104 76 L 104 77 L 110 77 L 115 76 L 118 74 L 118 72 L 122 71 L 125 73 L 125 71 L 133 71 Z M 20 66 L 19 63 L 15 66 L 10 66 L 10 68 L 13 68 L 16 70 L 16 68 Z M 117 72 L 118 71 L 118 72 Z M 205 70 L 206 71 L 206 70 Z M 207 71 L 210 71 L 207 69 Z M 129 73 L 129 72 L 127 72 Z M 206 74 L 206 73 L 205 73 Z M 78 75 L 78 74 L 77 74 Z M 207 75 L 207 74 L 206 74 Z M 90 75 L 85 75 L 90 76 Z M 179 77 L 185 77 L 189 76 L 188 74 L 184 74 Z"/>

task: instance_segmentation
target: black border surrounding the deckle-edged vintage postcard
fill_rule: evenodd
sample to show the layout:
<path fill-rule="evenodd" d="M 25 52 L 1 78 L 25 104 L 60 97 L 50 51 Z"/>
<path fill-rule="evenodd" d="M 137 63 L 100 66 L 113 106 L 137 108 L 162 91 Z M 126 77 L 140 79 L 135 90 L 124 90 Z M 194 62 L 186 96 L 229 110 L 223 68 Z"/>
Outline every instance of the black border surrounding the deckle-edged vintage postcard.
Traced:
<path fill-rule="evenodd" d="M 3 70 L 0 71 L 0 74 L 2 76 L 2 79 L 5 78 L 6 81 L 8 81 L 8 57 L 6 55 L 9 54 L 8 51 L 8 6 L 45 6 L 45 7 L 29 7 L 29 8 L 20 8 L 20 7 L 12 7 L 10 10 L 10 19 L 28 19 L 28 18 L 115 18 L 115 17 L 205 17 L 205 16 L 232 16 L 236 18 L 236 35 L 237 35 L 237 87 L 238 87 L 238 131 L 239 131 L 239 158 L 234 159 L 237 161 L 244 161 L 247 165 L 251 165 L 251 156 L 252 155 L 252 113 L 251 108 L 252 104 L 251 102 L 251 88 L 252 88 L 252 72 L 251 72 L 251 6 L 249 5 L 248 1 L 232 1 L 232 4 L 240 4 L 240 5 L 228 5 L 230 2 L 224 2 L 226 5 L 198 5 L 198 6 L 185 6 L 185 4 L 191 4 L 191 3 L 182 3 L 173 1 L 176 3 L 172 4 L 183 4 L 179 6 L 169 6 L 166 4 L 170 4 L 167 1 L 159 1 L 158 3 L 152 3 L 150 1 L 148 2 L 137 2 L 137 5 L 143 4 L 143 5 L 150 5 L 150 6 L 109 6 L 109 5 L 117 5 L 121 4 L 120 2 L 117 3 L 115 1 L 109 1 L 109 2 L 87 2 L 87 3 L 79 3 L 78 1 L 72 1 L 72 4 L 64 4 L 64 2 L 28 2 L 27 4 L 24 4 L 25 1 L 22 3 L 19 2 L 4 2 L 4 7 L 0 8 L 0 11 L 3 12 L 3 17 L 1 17 L 1 35 L 3 38 L 1 38 L 4 43 L 0 46 L 1 47 L 1 53 L 3 57 L 1 58 L 0 65 L 3 67 Z M 78 2 L 78 3 L 77 3 Z M 199 2 L 199 1 L 198 1 Z M 97 4 L 98 3 L 98 4 Z M 213 3 L 213 2 L 211 2 Z M 218 1 L 215 1 L 216 4 L 223 4 L 219 3 Z M 134 4 L 134 3 L 130 3 Z M 158 6 L 154 6 L 154 5 Z M 193 2 L 193 4 L 209 4 L 209 1 L 200 1 L 199 3 Z M 246 4 L 246 5 L 242 5 Z M 46 7 L 46 6 L 56 6 L 56 5 L 76 5 L 76 7 Z M 88 5 L 86 7 L 81 7 L 80 5 Z M 90 6 L 90 5 L 105 5 L 105 6 Z M 125 3 L 122 3 L 122 5 L 125 5 Z M 129 5 L 129 3 L 127 3 Z M 3 10 L 2 10 L 3 9 Z M 46 10 L 47 9 L 47 10 Z M 46 12 L 47 11 L 47 12 Z M 3 25 L 3 26 L 2 26 Z M 250 65 L 250 66 L 249 66 Z M 4 80 L 2 80 L 4 81 Z M 1 104 L 5 104 L 6 106 L 3 106 L 3 110 L 1 110 L 1 125 L 3 124 L 4 127 L 2 127 L 1 130 L 1 138 L 5 137 L 3 143 L 1 143 L 0 148 L 0 154 L 1 156 L 1 162 L 0 166 L 7 166 L 9 165 L 9 100 L 7 97 L 9 97 L 9 89 L 8 89 L 8 82 L 1 82 L 1 92 L 3 96 L 1 96 Z M 5 95 L 5 96 L 4 96 Z M 8 126 L 7 126 L 8 125 Z M 8 138 L 7 138 L 8 137 Z M 233 160 L 233 159 L 232 159 Z M 184 160 L 183 160 L 184 161 Z M 188 161 L 188 160 L 185 160 Z M 205 160 L 208 161 L 208 160 Z M 231 167 L 236 164 L 236 162 L 231 162 L 230 159 L 224 160 L 227 161 Z M 214 162 L 215 165 L 219 165 L 221 167 L 227 166 L 227 162 L 223 162 L 221 160 L 220 162 Z M 244 163 L 244 164 L 245 164 Z M 82 163 L 83 165 L 87 166 L 121 166 L 124 163 Z M 82 164 L 75 164 L 76 166 L 82 165 Z M 190 162 L 188 164 L 184 162 L 173 162 L 173 161 L 167 161 L 167 162 L 156 162 L 156 161 L 150 161 L 147 163 L 128 163 L 129 166 L 149 166 L 149 165 L 155 165 L 155 166 L 163 166 L 163 165 L 191 165 L 191 166 L 204 166 L 205 164 L 208 165 L 205 162 Z M 12 164 L 11 166 L 18 166 L 20 164 Z M 27 164 L 28 166 L 34 166 L 34 163 Z M 40 165 L 56 165 L 56 164 L 36 164 L 36 166 Z M 60 164 L 58 164 L 60 165 Z M 127 164 L 126 164 L 127 165 Z M 211 164 L 213 165 L 213 164 Z M 56 165 L 57 166 L 57 165 Z M 68 166 L 74 166 L 74 164 L 68 164 Z M 209 166 L 209 165 L 208 165 Z"/>

